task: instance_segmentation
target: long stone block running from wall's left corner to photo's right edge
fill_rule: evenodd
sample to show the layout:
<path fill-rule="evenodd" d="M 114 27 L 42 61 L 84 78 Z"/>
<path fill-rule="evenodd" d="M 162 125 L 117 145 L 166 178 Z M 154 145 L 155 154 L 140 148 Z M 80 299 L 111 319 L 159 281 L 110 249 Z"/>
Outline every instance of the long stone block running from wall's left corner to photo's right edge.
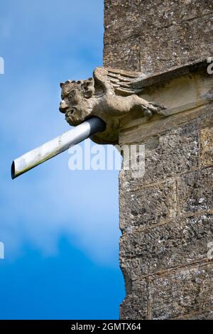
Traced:
<path fill-rule="evenodd" d="M 178 218 L 146 231 L 124 233 L 120 265 L 133 281 L 176 266 L 207 259 L 213 241 L 213 215 Z"/>

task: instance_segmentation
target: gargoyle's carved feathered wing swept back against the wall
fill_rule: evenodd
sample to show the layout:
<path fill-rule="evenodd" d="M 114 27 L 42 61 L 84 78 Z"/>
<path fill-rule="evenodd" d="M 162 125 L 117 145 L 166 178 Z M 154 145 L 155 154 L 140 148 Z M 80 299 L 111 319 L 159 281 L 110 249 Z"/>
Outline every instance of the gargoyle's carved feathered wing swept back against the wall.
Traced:
<path fill-rule="evenodd" d="M 118 95 L 133 95 L 142 92 L 143 88 L 136 89 L 135 82 L 141 73 L 114 70 L 112 68 L 97 68 L 94 70 L 94 80 L 99 82 L 106 92 Z"/>

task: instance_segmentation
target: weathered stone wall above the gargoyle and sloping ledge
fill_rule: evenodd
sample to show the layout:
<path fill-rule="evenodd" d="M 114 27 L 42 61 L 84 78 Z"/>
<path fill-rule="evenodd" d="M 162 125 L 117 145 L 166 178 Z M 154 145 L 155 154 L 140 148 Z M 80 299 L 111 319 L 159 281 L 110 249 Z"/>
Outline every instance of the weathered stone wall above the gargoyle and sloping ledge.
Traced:
<path fill-rule="evenodd" d="M 105 0 L 104 65 L 164 71 L 213 54 L 212 0 Z"/>

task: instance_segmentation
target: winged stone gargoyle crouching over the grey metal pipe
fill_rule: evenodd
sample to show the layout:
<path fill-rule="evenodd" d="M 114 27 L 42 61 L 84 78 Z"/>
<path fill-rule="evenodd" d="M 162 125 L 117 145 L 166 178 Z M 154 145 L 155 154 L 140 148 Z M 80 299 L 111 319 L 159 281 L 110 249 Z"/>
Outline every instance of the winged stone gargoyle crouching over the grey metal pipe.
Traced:
<path fill-rule="evenodd" d="M 60 112 L 74 126 L 92 116 L 103 119 L 106 130 L 92 139 L 99 144 L 116 144 L 119 124 L 130 113 L 140 113 L 147 119 L 153 114 L 164 116 L 165 107 L 138 96 L 142 90 L 134 87 L 136 80 L 138 74 L 109 68 L 96 68 L 88 80 L 67 80 L 60 84 Z"/>

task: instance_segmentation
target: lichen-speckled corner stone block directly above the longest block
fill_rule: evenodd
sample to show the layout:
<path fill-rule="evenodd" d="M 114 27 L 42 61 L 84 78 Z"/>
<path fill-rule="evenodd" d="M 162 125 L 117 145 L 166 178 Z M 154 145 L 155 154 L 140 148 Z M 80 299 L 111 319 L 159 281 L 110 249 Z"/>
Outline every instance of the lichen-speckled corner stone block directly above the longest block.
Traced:
<path fill-rule="evenodd" d="M 176 217 L 176 185 L 174 180 L 138 188 L 136 191 L 120 191 L 120 228 L 153 227 Z"/>

